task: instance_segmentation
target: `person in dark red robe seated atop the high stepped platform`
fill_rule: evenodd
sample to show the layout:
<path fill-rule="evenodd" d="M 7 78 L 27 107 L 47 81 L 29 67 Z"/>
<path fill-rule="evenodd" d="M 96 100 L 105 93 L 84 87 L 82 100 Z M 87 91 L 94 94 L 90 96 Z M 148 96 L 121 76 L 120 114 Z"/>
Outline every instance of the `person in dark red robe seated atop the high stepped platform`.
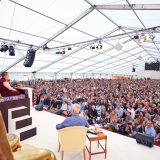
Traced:
<path fill-rule="evenodd" d="M 2 97 L 17 96 L 20 92 L 14 89 L 9 84 L 9 74 L 8 72 L 3 72 L 0 79 L 0 94 Z"/>

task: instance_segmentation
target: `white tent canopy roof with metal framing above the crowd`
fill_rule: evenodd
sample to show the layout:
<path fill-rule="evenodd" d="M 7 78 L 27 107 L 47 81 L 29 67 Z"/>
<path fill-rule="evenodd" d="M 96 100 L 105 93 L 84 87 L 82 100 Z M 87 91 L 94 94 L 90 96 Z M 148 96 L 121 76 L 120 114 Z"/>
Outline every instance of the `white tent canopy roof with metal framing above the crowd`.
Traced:
<path fill-rule="evenodd" d="M 0 20 L 0 41 L 15 47 L 14 57 L 0 52 L 0 71 L 131 75 L 159 59 L 159 0 L 1 0 Z M 37 52 L 26 68 L 30 45 Z"/>

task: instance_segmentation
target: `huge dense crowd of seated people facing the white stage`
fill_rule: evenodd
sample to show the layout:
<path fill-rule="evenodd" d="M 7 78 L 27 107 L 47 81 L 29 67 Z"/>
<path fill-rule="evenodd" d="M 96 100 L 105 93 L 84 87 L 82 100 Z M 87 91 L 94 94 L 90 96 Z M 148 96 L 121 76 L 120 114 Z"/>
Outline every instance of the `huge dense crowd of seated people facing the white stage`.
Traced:
<path fill-rule="evenodd" d="M 110 131 L 134 137 L 146 133 L 160 141 L 160 80 L 64 79 L 27 81 L 34 102 L 71 116 L 79 103 L 81 116 Z"/>

